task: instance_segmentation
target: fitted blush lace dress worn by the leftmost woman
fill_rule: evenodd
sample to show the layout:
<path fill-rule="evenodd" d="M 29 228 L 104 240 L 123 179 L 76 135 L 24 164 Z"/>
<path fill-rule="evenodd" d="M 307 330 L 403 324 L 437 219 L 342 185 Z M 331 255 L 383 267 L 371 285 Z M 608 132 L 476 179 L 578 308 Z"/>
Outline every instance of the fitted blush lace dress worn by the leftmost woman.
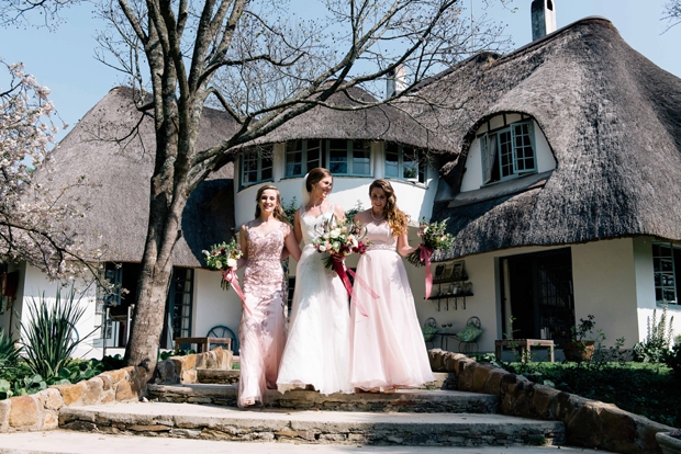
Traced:
<path fill-rule="evenodd" d="M 245 304 L 253 314 L 242 311 L 237 405 L 263 402 L 268 388 L 277 387 L 279 362 L 286 342 L 284 284 L 281 268 L 283 240 L 290 226 L 260 235 L 246 224 L 248 262 L 244 273 Z"/>

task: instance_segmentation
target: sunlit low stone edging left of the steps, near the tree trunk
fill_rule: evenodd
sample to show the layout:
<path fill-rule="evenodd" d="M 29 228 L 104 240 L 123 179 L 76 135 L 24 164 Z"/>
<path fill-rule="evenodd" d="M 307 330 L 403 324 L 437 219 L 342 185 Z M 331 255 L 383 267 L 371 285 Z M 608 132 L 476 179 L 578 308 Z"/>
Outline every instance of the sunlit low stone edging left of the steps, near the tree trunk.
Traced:
<path fill-rule="evenodd" d="M 196 383 L 197 367 L 231 368 L 232 352 L 217 348 L 206 353 L 174 356 L 157 364 L 155 376 L 170 383 Z M 129 366 L 107 371 L 74 385 L 53 385 L 30 396 L 0 400 L 0 433 L 54 430 L 64 407 L 138 401 L 146 396 L 147 371 Z"/>

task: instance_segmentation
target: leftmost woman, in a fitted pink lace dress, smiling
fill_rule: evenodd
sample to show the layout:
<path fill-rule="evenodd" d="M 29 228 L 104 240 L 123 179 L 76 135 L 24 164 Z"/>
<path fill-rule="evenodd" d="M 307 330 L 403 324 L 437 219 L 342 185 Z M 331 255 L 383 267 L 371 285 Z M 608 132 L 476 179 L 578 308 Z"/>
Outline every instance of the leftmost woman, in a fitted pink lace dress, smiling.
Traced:
<path fill-rule="evenodd" d="M 300 258 L 293 229 L 281 208 L 279 190 L 265 185 L 256 195 L 255 219 L 239 229 L 239 245 L 246 262 L 245 305 L 239 325 L 239 407 L 263 405 L 267 389 L 277 387 L 279 363 L 286 342 L 286 286 L 281 258 L 287 249 Z"/>

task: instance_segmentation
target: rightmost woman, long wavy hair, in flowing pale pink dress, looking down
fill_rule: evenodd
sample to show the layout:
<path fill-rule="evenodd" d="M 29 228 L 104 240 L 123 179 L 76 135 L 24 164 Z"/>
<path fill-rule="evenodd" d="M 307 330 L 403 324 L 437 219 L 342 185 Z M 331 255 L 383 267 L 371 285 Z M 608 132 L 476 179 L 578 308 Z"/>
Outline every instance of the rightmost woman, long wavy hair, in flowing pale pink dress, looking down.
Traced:
<path fill-rule="evenodd" d="M 416 317 L 414 297 L 400 256 L 417 248 L 409 246 L 408 217 L 397 206 L 392 185 L 376 180 L 369 186 L 371 208 L 358 213 L 372 243 L 360 257 L 357 276 L 372 288 L 372 298 L 357 281 L 354 297 L 368 317 L 350 305 L 351 383 L 358 389 L 386 391 L 417 387 L 434 378 L 428 353 Z"/>

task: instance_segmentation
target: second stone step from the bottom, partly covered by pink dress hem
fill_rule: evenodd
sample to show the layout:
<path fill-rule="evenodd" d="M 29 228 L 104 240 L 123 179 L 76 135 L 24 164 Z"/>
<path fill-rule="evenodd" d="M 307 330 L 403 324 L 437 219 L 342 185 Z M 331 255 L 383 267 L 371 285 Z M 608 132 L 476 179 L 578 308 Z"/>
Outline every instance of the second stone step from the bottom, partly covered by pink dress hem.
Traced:
<path fill-rule="evenodd" d="M 236 385 L 147 385 L 150 400 L 236 407 Z M 399 389 L 394 393 L 332 394 L 294 389 L 270 390 L 266 408 L 328 411 L 410 411 L 495 413 L 496 396 L 440 389 Z"/>

